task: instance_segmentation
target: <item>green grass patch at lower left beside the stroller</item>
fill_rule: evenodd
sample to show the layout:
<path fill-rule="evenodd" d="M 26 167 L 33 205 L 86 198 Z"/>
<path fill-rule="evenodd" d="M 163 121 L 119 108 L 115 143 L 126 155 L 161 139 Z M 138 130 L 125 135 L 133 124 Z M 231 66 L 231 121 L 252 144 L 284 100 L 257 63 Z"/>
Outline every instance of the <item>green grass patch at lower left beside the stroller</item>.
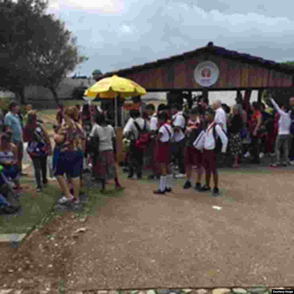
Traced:
<path fill-rule="evenodd" d="M 33 179 L 22 179 L 21 182 L 24 186 L 35 186 Z M 21 211 L 16 215 L 0 216 L 0 233 L 29 232 L 35 225 L 41 222 L 59 197 L 60 190 L 53 186 L 44 188 L 42 193 L 36 193 L 34 190 L 30 193 L 24 192 L 19 198 L 22 206 Z"/>

